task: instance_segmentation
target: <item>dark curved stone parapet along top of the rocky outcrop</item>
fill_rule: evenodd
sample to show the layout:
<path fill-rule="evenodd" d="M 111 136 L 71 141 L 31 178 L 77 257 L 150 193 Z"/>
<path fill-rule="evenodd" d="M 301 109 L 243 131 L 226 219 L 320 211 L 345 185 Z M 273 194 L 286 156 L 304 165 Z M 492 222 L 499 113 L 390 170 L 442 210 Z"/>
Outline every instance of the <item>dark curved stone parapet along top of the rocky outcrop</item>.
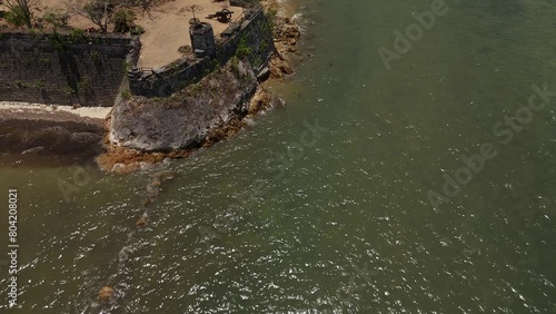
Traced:
<path fill-rule="evenodd" d="M 131 94 L 146 97 L 169 97 L 186 86 L 198 82 L 234 56 L 247 57 L 257 75 L 265 70 L 275 51 L 275 46 L 270 23 L 260 7 L 246 10 L 225 33 L 228 36 L 217 40 L 215 58 L 185 56 L 162 68 L 130 70 Z"/>

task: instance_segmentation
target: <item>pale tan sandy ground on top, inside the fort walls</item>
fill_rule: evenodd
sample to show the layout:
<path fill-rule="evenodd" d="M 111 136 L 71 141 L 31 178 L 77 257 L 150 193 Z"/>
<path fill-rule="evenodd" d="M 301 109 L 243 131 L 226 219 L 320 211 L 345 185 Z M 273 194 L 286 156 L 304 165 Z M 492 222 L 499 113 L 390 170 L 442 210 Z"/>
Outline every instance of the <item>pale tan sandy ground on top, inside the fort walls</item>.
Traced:
<path fill-rule="evenodd" d="M 37 3 L 36 13 L 38 17 L 48 10 L 68 10 L 67 2 L 83 2 L 83 0 L 34 1 Z M 196 13 L 196 17 L 201 21 L 210 22 L 215 36 L 221 33 L 228 24 L 206 19 L 208 14 L 212 14 L 224 8 L 229 8 L 230 11 L 234 11 L 231 19 L 236 20 L 242 12 L 242 8 L 230 7 L 228 0 L 221 2 L 214 2 L 212 0 L 168 0 L 152 8 L 150 16 L 138 10 L 136 24 L 142 26 L 146 30 L 141 36 L 142 47 L 139 57 L 139 67 L 159 68 L 182 57 L 178 51 L 179 47 L 191 45 L 191 40 L 189 39 L 189 20 L 193 16 L 192 12 L 188 11 L 188 8 L 193 4 L 200 7 L 200 12 Z M 88 19 L 77 14 L 72 14 L 69 23 L 75 28 L 81 29 L 95 27 Z"/>

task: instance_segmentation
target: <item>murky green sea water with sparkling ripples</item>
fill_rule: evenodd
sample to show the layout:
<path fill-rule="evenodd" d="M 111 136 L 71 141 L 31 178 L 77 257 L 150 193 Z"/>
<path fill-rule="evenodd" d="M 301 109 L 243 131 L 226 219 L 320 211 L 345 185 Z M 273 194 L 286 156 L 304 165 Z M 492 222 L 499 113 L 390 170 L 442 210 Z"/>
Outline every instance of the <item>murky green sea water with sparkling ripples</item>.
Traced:
<path fill-rule="evenodd" d="M 556 90 L 556 3 L 447 3 L 387 70 L 377 49 L 430 1 L 304 1 L 315 57 L 272 84 L 286 106 L 191 158 L 129 176 L 2 166 L 14 312 L 556 313 L 556 98 L 508 144 L 493 133 L 532 85 Z M 427 193 L 485 143 L 496 157 L 435 209 Z M 146 207 L 160 171 L 175 178 Z"/>

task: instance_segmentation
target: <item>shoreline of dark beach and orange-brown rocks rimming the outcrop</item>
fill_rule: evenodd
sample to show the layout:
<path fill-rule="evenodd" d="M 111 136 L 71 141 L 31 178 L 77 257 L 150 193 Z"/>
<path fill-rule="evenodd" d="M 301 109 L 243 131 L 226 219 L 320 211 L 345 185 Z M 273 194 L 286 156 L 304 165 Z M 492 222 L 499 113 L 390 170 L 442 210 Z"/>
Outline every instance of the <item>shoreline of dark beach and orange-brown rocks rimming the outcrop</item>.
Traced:
<path fill-rule="evenodd" d="M 292 19 L 295 14 L 292 1 L 262 0 L 260 4 L 267 18 L 271 18 L 268 21 L 271 24 L 270 32 L 276 48 L 266 63 L 266 75 L 258 80 L 256 89 L 241 106 L 246 106 L 247 110 L 240 115 L 232 114 L 232 117 L 224 125 L 211 127 L 200 146 L 186 146 L 161 153 L 115 145 L 115 141 L 110 139 L 110 124 L 116 105 L 79 107 L 0 101 L 0 111 L 7 112 L 0 118 L 3 121 L 3 128 L 0 129 L 0 144 L 6 147 L 3 151 L 0 151 L 0 166 L 20 165 L 22 161 L 37 165 L 40 164 L 41 158 L 61 160 L 60 164 L 67 160 L 95 159 L 97 166 L 103 171 L 125 174 L 151 167 L 166 158 L 189 157 L 201 147 L 210 147 L 220 140 L 234 137 L 247 125 L 247 118 L 282 105 L 277 96 L 268 91 L 268 85 L 291 76 L 295 72 L 292 65 L 298 62 L 296 57 L 301 55 L 297 48 L 301 29 Z M 83 137 L 80 124 L 93 125 L 93 130 L 89 127 L 86 131 L 95 136 L 89 134 Z M 26 133 L 14 131 L 21 126 L 24 126 Z M 57 126 L 63 128 L 60 130 Z M 72 133 L 81 135 L 76 143 L 70 140 L 73 139 Z M 30 138 L 33 140 L 29 140 Z M 91 140 L 95 139 L 97 141 L 92 143 Z M 83 146 L 83 143 L 90 147 Z M 67 148 L 62 147 L 62 144 L 66 144 Z"/>

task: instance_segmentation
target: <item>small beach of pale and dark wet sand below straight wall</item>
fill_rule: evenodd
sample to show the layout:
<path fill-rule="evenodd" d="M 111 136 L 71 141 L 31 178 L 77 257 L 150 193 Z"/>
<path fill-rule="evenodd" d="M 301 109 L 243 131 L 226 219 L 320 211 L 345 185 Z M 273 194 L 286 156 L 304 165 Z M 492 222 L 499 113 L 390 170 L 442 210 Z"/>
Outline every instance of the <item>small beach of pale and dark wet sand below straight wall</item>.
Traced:
<path fill-rule="evenodd" d="M 0 101 L 0 166 L 85 160 L 102 151 L 110 108 Z"/>

